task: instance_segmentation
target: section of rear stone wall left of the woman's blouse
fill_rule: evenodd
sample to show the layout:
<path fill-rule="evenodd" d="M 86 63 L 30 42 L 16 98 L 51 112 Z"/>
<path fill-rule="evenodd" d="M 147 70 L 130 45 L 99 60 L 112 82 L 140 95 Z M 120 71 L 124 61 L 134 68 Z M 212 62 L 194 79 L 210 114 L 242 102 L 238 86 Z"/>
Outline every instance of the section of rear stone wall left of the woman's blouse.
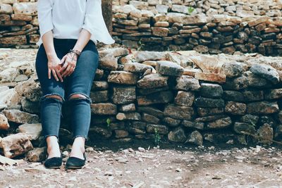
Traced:
<path fill-rule="evenodd" d="M 1 47 L 36 47 L 39 27 L 35 0 L 1 0 L 0 20 Z"/>

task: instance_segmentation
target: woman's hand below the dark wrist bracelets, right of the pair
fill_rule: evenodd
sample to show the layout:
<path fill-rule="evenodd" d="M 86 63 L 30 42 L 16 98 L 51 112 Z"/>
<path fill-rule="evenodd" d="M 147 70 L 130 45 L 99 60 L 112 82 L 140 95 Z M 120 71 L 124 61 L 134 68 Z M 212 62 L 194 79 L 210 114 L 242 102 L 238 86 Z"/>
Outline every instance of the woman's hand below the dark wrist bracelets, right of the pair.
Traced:
<path fill-rule="evenodd" d="M 77 61 L 78 61 L 78 56 L 73 52 L 66 54 L 66 56 L 63 56 L 60 63 L 63 64 L 60 70 L 61 77 L 67 77 L 71 75 L 75 70 Z"/>

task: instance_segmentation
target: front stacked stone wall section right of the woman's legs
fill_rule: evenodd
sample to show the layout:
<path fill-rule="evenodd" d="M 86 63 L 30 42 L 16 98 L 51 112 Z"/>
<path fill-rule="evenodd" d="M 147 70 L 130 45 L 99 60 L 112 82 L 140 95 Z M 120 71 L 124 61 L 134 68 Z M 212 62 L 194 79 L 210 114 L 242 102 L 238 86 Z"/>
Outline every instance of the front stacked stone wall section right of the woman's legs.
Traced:
<path fill-rule="evenodd" d="M 278 61 L 271 63 L 275 68 L 227 61 L 220 73 L 202 73 L 179 55 L 139 51 L 134 56 L 124 49 L 102 51 L 104 74 L 92 88 L 90 132 L 113 142 L 160 134 L 197 145 L 204 140 L 247 144 L 245 135 L 271 144 L 274 132 L 281 137 Z"/>

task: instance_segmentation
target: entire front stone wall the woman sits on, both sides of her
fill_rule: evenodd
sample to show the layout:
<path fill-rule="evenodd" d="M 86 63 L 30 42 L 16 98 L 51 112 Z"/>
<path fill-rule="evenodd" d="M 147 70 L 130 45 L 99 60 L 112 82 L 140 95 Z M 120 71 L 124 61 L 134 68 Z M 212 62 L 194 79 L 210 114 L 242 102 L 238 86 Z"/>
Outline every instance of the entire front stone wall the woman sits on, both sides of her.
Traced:
<path fill-rule="evenodd" d="M 123 48 L 99 54 L 90 94 L 90 140 L 269 145 L 281 139 L 281 57 Z M 13 153 L 18 149 L 32 149 L 29 139 L 41 146 L 35 55 L 36 50 L 0 52 L 0 148 L 9 157 L 18 155 Z M 72 137 L 67 105 L 61 140 Z"/>

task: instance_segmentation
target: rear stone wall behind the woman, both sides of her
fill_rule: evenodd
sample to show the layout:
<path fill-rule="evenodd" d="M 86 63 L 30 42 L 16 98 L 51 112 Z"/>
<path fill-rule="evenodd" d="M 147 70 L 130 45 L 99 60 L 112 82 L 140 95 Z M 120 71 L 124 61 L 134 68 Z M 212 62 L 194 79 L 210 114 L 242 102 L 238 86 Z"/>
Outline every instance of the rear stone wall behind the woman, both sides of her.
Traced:
<path fill-rule="evenodd" d="M 37 47 L 36 2 L 0 3 L 0 47 Z M 129 48 L 282 54 L 281 0 L 120 0 L 113 4 L 112 34 L 116 44 Z"/>

